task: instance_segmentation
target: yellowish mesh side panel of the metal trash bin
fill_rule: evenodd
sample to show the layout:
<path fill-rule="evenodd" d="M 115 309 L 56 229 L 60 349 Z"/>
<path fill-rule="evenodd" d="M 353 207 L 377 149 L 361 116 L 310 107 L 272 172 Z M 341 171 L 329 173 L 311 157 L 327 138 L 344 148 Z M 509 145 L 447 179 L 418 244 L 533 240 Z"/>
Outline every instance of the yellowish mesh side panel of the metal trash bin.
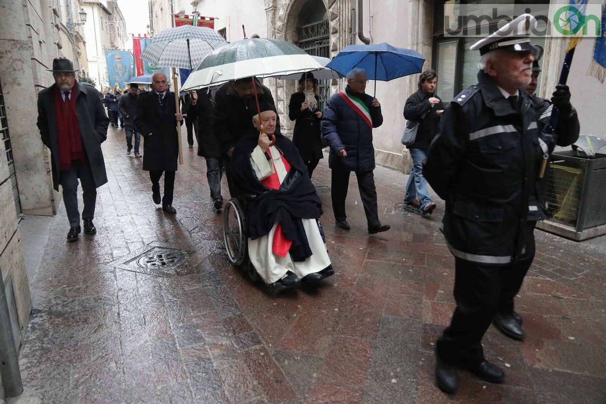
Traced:
<path fill-rule="evenodd" d="M 581 190 L 585 171 L 571 164 L 552 162 L 547 185 L 547 213 L 551 220 L 576 226 L 581 206 Z"/>

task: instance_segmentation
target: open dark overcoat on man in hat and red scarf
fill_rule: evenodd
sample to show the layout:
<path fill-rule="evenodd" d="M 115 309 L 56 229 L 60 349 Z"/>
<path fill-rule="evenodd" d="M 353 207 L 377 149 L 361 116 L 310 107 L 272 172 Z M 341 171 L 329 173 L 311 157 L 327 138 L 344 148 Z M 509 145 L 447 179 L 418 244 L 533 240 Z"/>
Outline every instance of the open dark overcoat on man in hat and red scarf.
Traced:
<path fill-rule="evenodd" d="M 61 171 L 59 171 L 59 144 L 55 116 L 55 88 L 56 84 L 53 84 L 38 94 L 38 129 L 42 143 L 50 149 L 53 187 L 55 191 L 59 191 Z M 103 101 L 99 98 L 99 93 L 95 88 L 78 84 L 76 112 L 86 159 L 93 172 L 95 187 L 99 188 L 107 182 L 101 144 L 107 139 L 107 127 L 110 120 L 105 114 Z"/>

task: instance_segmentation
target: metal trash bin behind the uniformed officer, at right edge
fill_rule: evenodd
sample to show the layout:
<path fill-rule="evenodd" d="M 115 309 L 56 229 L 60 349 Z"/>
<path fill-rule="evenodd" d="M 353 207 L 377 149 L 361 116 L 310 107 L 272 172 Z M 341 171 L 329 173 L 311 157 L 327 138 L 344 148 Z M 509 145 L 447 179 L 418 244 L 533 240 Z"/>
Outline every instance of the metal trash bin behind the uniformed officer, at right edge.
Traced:
<path fill-rule="evenodd" d="M 599 137 L 581 135 L 572 150 L 551 154 L 545 195 L 551 219 L 546 222 L 570 229 L 561 234 L 543 225 L 539 228 L 573 240 L 606 234 L 606 154 L 598 153 L 603 146 L 606 141 Z M 595 227 L 604 229 L 582 234 Z M 570 230 L 579 234 L 570 236 Z"/>

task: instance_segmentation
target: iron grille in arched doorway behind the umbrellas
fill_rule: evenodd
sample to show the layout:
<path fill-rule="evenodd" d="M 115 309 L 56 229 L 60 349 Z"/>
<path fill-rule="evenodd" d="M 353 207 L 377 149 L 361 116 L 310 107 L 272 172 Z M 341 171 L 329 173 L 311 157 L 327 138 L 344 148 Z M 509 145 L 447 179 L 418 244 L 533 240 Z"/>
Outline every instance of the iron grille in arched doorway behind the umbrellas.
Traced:
<path fill-rule="evenodd" d="M 330 24 L 328 20 L 314 22 L 297 28 L 299 41 L 297 45 L 311 56 L 330 58 Z M 318 84 L 321 111 L 330 97 L 330 80 L 321 80 Z"/>

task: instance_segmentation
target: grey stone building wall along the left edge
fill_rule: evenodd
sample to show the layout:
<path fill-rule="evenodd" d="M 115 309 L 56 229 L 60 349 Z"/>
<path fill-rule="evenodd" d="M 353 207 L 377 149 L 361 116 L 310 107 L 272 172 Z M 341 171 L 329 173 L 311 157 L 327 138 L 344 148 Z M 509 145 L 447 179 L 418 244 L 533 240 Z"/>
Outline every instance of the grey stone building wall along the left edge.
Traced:
<path fill-rule="evenodd" d="M 66 4 L 58 0 L 0 4 L 0 274 L 18 344 L 32 310 L 19 214 L 51 216 L 59 202 L 50 175 L 50 154 L 36 127 L 37 96 L 53 84 L 47 71 L 53 59 L 77 59 L 78 43 L 84 42 L 70 31 Z M 69 4 L 75 8 L 77 2 Z"/>

